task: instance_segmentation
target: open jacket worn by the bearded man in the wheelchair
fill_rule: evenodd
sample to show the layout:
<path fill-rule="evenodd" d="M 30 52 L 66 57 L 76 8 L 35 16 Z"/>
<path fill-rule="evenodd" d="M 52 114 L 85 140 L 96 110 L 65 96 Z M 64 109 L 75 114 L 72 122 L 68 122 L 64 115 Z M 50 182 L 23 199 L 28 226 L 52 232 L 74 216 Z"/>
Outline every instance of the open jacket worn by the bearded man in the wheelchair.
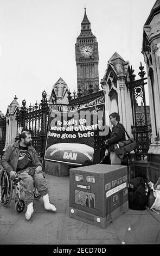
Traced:
<path fill-rule="evenodd" d="M 17 170 L 17 163 L 20 155 L 19 145 L 20 141 L 16 141 L 13 144 L 9 144 L 7 149 L 5 150 L 5 153 L 2 157 L 2 166 L 7 173 L 9 173 L 11 170 L 14 170 L 15 172 Z M 33 166 L 42 167 L 42 164 L 39 160 L 39 157 L 37 157 L 36 150 L 34 149 L 34 147 L 28 146 L 28 152 L 31 156 Z"/>

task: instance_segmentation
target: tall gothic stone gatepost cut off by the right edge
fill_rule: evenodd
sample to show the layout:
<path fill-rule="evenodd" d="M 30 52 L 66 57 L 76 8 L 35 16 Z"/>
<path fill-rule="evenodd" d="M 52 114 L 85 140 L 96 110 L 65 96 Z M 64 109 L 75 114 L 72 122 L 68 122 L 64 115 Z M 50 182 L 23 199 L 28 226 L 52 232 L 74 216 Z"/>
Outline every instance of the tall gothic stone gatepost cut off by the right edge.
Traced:
<path fill-rule="evenodd" d="M 149 180 L 160 176 L 160 1 L 156 1 L 144 25 L 142 53 L 148 73 L 149 101 L 152 125 L 152 143 L 148 154 Z"/>

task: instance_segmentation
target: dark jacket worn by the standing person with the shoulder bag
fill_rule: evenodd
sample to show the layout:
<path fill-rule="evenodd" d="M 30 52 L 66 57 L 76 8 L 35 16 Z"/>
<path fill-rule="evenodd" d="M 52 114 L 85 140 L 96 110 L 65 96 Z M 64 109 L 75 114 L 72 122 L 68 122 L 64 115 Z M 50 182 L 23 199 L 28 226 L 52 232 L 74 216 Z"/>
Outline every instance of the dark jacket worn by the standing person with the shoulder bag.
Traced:
<path fill-rule="evenodd" d="M 108 149 L 109 152 L 114 151 L 114 144 L 117 144 L 119 141 L 125 141 L 125 128 L 122 124 L 117 123 L 112 128 L 110 133 L 110 137 L 108 138 L 107 142 L 105 143 L 105 148 Z"/>

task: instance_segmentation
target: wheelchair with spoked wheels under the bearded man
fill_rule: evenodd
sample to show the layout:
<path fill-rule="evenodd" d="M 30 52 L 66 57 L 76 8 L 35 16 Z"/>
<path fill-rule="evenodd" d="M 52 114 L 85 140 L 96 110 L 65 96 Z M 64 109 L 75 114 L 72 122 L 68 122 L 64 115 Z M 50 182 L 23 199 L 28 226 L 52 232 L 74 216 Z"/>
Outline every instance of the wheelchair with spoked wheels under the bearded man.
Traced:
<path fill-rule="evenodd" d="M 3 206 L 8 207 L 11 200 L 15 200 L 15 211 L 20 214 L 23 212 L 25 203 L 21 198 L 21 192 L 23 191 L 24 184 L 21 182 L 21 178 L 16 177 L 11 180 L 10 175 L 3 169 L 0 176 L 0 202 Z M 14 192 L 14 197 L 13 197 Z M 37 192 L 34 184 L 34 199 L 38 200 L 41 198 L 39 192 Z"/>

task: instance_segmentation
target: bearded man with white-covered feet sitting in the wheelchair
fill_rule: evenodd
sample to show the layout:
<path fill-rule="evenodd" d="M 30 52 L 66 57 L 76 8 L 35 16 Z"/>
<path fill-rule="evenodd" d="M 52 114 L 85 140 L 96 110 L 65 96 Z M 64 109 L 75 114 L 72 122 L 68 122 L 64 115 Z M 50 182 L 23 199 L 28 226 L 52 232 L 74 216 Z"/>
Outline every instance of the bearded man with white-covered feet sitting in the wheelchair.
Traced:
<path fill-rule="evenodd" d="M 34 212 L 34 183 L 42 196 L 44 208 L 56 211 L 54 204 L 49 203 L 48 187 L 43 177 L 42 164 L 31 143 L 30 132 L 23 131 L 17 142 L 8 145 L 2 157 L 2 166 L 9 173 L 11 180 L 18 177 L 24 183 L 25 204 L 27 205 L 25 218 L 27 220 Z"/>

